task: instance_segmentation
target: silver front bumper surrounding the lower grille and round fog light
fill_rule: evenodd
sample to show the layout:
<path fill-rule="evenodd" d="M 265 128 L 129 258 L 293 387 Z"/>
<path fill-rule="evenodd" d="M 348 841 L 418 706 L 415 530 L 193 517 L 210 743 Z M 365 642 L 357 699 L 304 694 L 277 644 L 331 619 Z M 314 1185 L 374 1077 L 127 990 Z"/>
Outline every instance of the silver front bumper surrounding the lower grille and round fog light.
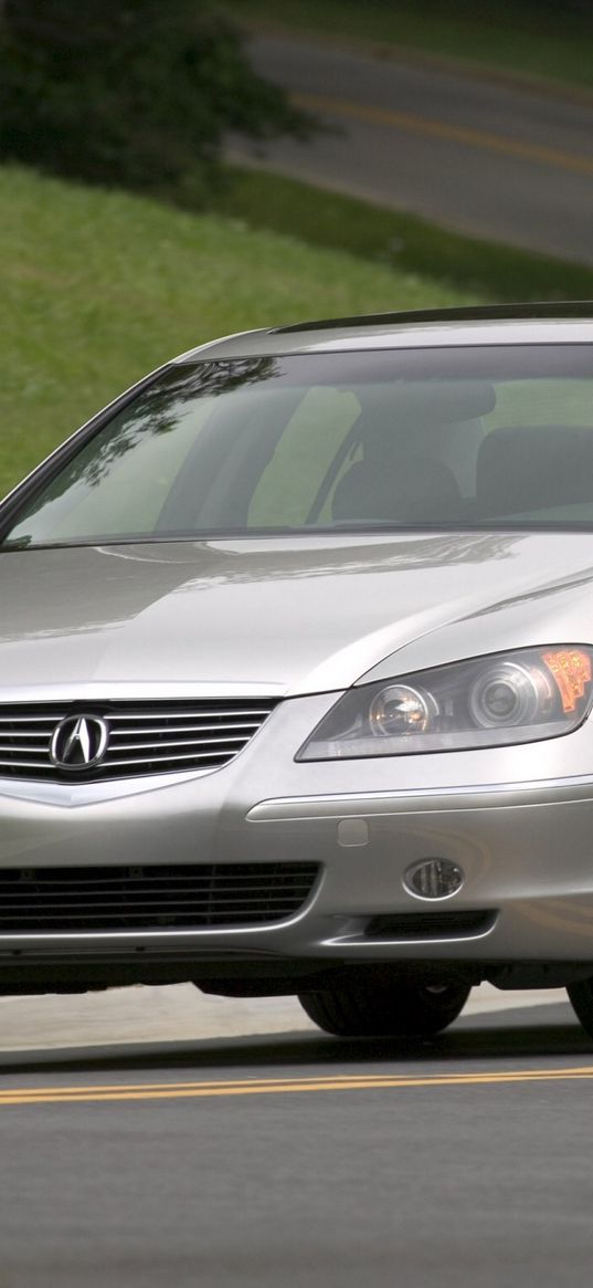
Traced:
<path fill-rule="evenodd" d="M 418 961 L 473 962 L 477 974 L 482 963 L 484 978 L 493 963 L 516 962 L 593 972 L 593 774 L 579 772 L 593 765 L 590 726 L 493 751 L 295 762 L 334 697 L 282 703 L 235 761 L 202 777 L 1 782 L 4 868 L 307 860 L 322 869 L 300 912 L 273 925 L 0 934 L 10 990 L 35 963 L 58 978 L 60 962 L 82 981 L 109 962 L 109 983 Z M 408 868 L 427 858 L 462 868 L 458 894 L 432 902 L 406 889 Z M 435 912 L 446 913 L 440 925 Z M 470 930 L 467 913 L 476 913 Z"/>

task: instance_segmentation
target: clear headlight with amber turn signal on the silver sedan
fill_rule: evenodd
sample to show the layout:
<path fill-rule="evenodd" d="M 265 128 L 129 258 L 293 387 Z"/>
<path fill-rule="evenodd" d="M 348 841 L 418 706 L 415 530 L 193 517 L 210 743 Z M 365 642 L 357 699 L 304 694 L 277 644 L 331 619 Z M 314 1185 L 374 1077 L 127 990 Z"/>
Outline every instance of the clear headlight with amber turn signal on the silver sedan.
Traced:
<path fill-rule="evenodd" d="M 500 747 L 570 733 L 593 701 L 593 649 L 520 649 L 350 689 L 297 760 Z"/>

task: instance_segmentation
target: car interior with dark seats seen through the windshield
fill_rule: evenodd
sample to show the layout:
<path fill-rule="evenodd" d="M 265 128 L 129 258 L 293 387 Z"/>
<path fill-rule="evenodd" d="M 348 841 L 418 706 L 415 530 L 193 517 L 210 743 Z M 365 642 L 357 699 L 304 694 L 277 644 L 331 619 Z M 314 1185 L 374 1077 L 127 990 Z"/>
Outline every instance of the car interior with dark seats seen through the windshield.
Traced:
<path fill-rule="evenodd" d="M 154 416 L 148 398 L 82 448 L 67 486 L 64 475 L 50 482 L 14 535 L 26 545 L 511 520 L 589 526 L 593 428 L 534 420 L 565 404 L 570 416 L 583 412 L 583 381 L 561 384 L 264 381 L 221 397 L 172 398 L 165 424 L 163 404 Z M 513 422 L 517 413 L 531 421 Z"/>

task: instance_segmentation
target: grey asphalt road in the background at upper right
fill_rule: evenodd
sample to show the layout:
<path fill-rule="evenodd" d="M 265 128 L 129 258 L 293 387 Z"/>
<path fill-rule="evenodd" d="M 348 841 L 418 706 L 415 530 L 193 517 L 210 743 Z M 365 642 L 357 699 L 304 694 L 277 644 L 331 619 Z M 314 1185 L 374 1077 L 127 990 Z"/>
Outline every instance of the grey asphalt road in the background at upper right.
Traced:
<path fill-rule="evenodd" d="M 297 36 L 259 35 L 251 54 L 334 126 L 307 144 L 269 143 L 260 164 L 593 264 L 593 95 L 570 102 Z"/>

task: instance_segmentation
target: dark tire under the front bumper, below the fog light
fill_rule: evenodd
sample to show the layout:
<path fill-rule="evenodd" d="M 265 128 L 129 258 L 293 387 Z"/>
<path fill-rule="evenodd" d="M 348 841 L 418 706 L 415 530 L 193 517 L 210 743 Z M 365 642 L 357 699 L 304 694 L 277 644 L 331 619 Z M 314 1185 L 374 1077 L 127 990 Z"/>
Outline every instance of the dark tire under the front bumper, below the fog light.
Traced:
<path fill-rule="evenodd" d="M 302 1009 L 336 1037 L 418 1037 L 453 1024 L 470 996 L 467 984 L 395 981 L 300 993 Z"/>

